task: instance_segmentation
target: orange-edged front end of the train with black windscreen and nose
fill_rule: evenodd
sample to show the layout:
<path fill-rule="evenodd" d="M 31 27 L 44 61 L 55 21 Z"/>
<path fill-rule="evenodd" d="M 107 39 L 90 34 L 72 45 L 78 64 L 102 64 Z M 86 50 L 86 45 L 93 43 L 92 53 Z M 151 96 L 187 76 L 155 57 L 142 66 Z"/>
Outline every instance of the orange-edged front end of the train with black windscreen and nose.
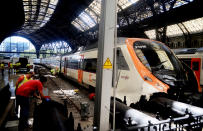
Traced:
<path fill-rule="evenodd" d="M 194 72 L 183 65 L 166 45 L 134 38 L 127 39 L 126 44 L 140 76 L 159 92 L 177 97 L 186 92 L 197 92 L 199 84 Z"/>

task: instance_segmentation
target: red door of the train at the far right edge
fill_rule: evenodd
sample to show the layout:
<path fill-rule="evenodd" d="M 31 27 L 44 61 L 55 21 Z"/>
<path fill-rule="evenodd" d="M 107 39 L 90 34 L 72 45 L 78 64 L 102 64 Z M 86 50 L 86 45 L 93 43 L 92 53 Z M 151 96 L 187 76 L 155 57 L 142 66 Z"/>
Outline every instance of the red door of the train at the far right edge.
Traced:
<path fill-rule="evenodd" d="M 191 59 L 191 69 L 195 72 L 198 82 L 200 82 L 200 70 L 201 70 L 201 59 L 192 58 Z M 201 88 L 198 89 L 201 92 Z"/>

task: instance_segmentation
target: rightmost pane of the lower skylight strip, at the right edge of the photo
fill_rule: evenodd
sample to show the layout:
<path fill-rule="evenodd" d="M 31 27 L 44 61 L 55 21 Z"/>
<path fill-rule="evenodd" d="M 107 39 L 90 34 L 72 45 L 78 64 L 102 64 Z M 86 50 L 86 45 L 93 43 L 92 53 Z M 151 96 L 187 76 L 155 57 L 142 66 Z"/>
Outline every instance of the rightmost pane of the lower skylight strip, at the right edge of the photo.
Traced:
<path fill-rule="evenodd" d="M 183 24 L 190 33 L 198 33 L 203 31 L 203 17 L 183 22 Z"/>

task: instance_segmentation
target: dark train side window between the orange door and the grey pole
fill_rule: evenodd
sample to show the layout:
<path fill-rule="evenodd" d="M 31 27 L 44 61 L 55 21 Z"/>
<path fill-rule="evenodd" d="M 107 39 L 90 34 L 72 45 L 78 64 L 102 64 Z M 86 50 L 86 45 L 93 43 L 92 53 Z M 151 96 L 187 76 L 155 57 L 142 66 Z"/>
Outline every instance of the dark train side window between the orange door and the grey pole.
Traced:
<path fill-rule="evenodd" d="M 96 73 L 97 59 L 84 59 L 84 71 Z"/>

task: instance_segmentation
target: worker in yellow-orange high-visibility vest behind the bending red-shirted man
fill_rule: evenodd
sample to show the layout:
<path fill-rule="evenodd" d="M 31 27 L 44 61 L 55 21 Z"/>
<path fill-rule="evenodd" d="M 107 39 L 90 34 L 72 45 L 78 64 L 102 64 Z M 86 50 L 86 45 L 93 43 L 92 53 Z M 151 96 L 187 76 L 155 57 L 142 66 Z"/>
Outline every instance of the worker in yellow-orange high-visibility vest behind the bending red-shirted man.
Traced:
<path fill-rule="evenodd" d="M 21 86 L 23 85 L 24 83 L 26 83 L 27 81 L 29 80 L 32 80 L 32 77 L 34 76 L 34 73 L 33 72 L 29 72 L 29 74 L 26 74 L 26 75 L 21 75 L 17 82 L 16 82 L 16 89 L 15 89 L 15 93 L 16 93 L 16 90 Z M 18 100 L 16 99 L 16 108 L 15 108 L 15 112 L 16 114 L 18 114 L 18 106 L 19 106 L 19 103 L 18 103 Z"/>

